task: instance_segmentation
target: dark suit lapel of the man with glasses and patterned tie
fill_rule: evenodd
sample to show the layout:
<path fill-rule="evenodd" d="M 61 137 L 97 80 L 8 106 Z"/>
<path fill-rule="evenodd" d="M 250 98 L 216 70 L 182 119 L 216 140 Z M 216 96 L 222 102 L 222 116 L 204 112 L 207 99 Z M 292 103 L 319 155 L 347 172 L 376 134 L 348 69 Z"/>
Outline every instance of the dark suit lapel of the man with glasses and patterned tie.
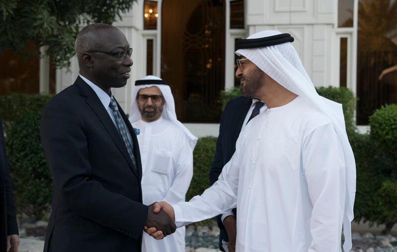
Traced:
<path fill-rule="evenodd" d="M 132 160 L 130 158 L 130 155 L 128 154 L 127 147 L 124 144 L 119 131 L 117 130 L 115 124 L 113 123 L 108 112 L 104 108 L 103 104 L 99 100 L 94 90 L 92 90 L 92 88 L 88 84 L 86 84 L 80 77 L 77 77 L 77 80 L 74 84 L 80 90 L 80 93 L 87 97 L 86 100 L 87 104 L 92 108 L 94 113 L 98 116 L 99 120 L 102 122 L 105 129 L 108 131 L 113 141 L 115 142 L 117 148 L 120 150 L 124 158 L 127 160 L 127 163 L 129 164 L 130 168 L 135 173 L 135 175 L 138 176 L 137 169 L 135 169 L 132 165 Z"/>

